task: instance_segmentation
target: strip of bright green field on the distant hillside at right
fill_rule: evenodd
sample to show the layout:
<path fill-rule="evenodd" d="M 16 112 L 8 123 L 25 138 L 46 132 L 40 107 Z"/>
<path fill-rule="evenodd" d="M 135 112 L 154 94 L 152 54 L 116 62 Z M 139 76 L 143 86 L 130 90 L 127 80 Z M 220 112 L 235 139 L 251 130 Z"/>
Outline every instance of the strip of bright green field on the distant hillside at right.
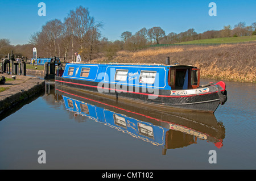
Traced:
<path fill-rule="evenodd" d="M 254 36 L 240 36 L 240 37 L 221 37 L 217 39 L 204 39 L 185 41 L 176 44 L 211 44 L 211 43 L 241 43 L 246 41 L 256 41 L 256 35 Z"/>

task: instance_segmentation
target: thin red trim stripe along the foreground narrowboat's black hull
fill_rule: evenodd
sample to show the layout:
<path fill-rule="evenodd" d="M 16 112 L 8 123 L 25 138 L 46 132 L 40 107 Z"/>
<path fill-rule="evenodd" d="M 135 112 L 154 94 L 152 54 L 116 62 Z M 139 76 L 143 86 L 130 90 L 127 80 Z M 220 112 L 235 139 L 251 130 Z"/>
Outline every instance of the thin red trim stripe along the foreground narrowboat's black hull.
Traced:
<path fill-rule="evenodd" d="M 74 83 L 74 82 L 67 82 L 67 81 L 59 81 L 59 80 L 55 80 L 55 81 L 63 82 L 63 83 L 71 83 L 71 84 L 75 84 L 75 85 L 79 85 L 79 86 L 94 87 L 94 88 L 97 88 L 97 89 L 107 89 L 107 90 L 128 92 L 128 93 L 133 93 L 133 94 L 159 96 L 159 97 L 164 97 L 164 98 L 183 98 L 183 97 L 191 97 L 191 96 L 195 96 L 195 95 L 214 94 L 214 93 L 218 92 L 218 91 L 215 91 L 215 92 L 207 92 L 207 93 L 204 93 L 204 94 L 179 95 L 179 96 L 175 96 L 175 95 L 156 95 L 156 94 L 147 94 L 147 93 L 142 93 L 142 92 L 133 92 L 133 91 L 125 91 L 125 90 L 119 90 L 119 89 L 111 89 L 111 88 L 106 88 L 106 87 L 91 86 L 91 85 L 85 85 L 85 84 L 81 84 L 81 83 Z"/>

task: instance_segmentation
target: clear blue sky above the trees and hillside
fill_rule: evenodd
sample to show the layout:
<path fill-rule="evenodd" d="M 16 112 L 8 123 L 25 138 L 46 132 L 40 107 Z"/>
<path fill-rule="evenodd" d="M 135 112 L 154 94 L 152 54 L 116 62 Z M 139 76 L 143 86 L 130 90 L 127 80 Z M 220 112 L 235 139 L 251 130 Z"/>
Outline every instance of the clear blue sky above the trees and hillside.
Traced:
<path fill-rule="evenodd" d="M 46 3 L 46 16 L 39 16 L 38 3 Z M 217 5 L 217 16 L 209 16 L 210 2 Z M 195 1 L 27 1 L 0 0 L 0 39 L 10 39 L 11 44 L 27 44 L 32 33 L 41 30 L 47 21 L 62 22 L 70 10 L 83 6 L 90 15 L 104 26 L 102 36 L 110 41 L 120 40 L 124 31 L 133 34 L 141 28 L 159 26 L 166 35 L 194 28 L 197 33 L 221 30 L 230 24 L 245 22 L 246 26 L 256 22 L 256 0 L 195 0 Z"/>

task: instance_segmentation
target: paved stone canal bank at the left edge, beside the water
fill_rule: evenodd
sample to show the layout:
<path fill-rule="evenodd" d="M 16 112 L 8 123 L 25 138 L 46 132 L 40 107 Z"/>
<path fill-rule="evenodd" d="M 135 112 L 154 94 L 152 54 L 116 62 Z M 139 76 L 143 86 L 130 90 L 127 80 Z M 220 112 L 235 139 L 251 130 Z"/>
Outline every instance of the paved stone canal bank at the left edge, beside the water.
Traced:
<path fill-rule="evenodd" d="M 4 90 L 0 92 L 0 114 L 10 110 L 24 100 L 39 95 L 44 91 L 45 82 L 42 79 L 23 75 L 0 74 L 7 79 Z"/>

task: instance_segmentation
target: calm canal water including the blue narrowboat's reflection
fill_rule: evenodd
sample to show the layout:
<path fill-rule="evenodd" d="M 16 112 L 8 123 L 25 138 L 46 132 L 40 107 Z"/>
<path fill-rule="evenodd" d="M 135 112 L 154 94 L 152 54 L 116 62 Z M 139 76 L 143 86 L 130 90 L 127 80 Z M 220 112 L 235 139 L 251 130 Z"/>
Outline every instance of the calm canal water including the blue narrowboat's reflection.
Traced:
<path fill-rule="evenodd" d="M 0 169 L 255 169 L 256 85 L 226 82 L 226 90 L 213 115 L 47 85 L 2 117 Z"/>

